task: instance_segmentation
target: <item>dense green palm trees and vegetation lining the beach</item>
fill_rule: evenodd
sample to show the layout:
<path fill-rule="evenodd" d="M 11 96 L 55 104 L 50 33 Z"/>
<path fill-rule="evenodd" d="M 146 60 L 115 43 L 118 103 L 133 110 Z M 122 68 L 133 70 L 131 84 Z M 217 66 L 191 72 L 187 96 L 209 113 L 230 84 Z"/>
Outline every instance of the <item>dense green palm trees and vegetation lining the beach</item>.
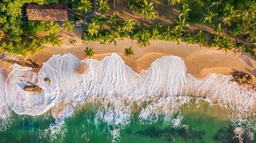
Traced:
<path fill-rule="evenodd" d="M 68 0 L 60 0 L 63 3 L 69 3 Z M 0 28 L 8 36 L 9 42 L 3 42 L 0 50 L 15 54 L 26 55 L 28 52 L 36 53 L 42 48 L 44 44 L 49 43 L 53 46 L 61 46 L 63 43 L 58 31 L 60 28 L 57 23 L 49 22 L 44 25 L 44 22 L 27 21 L 23 23 L 21 20 L 20 7 L 24 3 L 39 3 L 49 4 L 58 3 L 58 0 L 3 0 L 0 3 Z M 119 2 L 117 0 L 117 2 Z M 70 2 L 73 9 L 87 14 L 93 10 L 93 4 L 90 0 L 72 0 Z M 128 7 L 134 13 L 140 14 L 144 17 L 143 22 L 153 20 L 156 17 L 154 10 L 154 3 L 147 0 L 129 0 Z M 95 15 L 91 17 L 91 22 L 87 25 L 87 30 L 83 34 L 83 40 L 87 41 L 101 41 L 102 44 L 116 45 L 116 40 L 123 38 L 131 38 L 137 40 L 140 47 L 145 47 L 150 44 L 149 40 L 166 40 L 180 41 L 187 44 L 198 44 L 200 46 L 218 47 L 224 50 L 236 48 L 236 51 L 243 50 L 244 52 L 252 51 L 256 56 L 256 2 L 253 0 L 167 0 L 170 7 L 178 7 L 179 15 L 177 20 L 172 25 L 162 27 L 160 24 L 151 25 L 149 29 L 141 29 L 135 25 L 129 17 L 121 20 L 114 13 L 107 14 L 110 9 L 108 0 L 98 0 L 97 8 L 102 15 Z M 115 1 L 113 1 L 115 4 Z M 204 7 L 203 7 L 204 6 Z M 115 8 L 115 5 L 114 5 Z M 197 9 L 195 9 L 197 8 Z M 202 11 L 199 11 L 200 8 Z M 103 15 L 104 14 L 104 15 Z M 75 17 L 81 19 L 82 17 Z M 192 32 L 187 26 L 189 22 L 204 23 L 214 28 L 212 33 L 205 31 Z M 73 22 L 63 22 L 65 31 L 73 30 Z M 108 28 L 103 29 L 104 26 Z M 23 41 L 21 36 L 23 34 L 36 34 L 40 31 L 48 31 L 49 35 L 45 37 L 36 37 L 35 39 L 28 39 Z M 134 30 L 136 29 L 136 30 Z M 239 40 L 232 41 L 227 36 L 221 34 L 222 32 L 230 36 L 236 36 L 246 39 L 246 42 Z M 70 41 L 70 43 L 75 43 Z M 133 43 L 132 43 L 133 44 Z M 132 46 L 132 45 L 131 45 Z M 93 53 L 93 48 L 88 48 L 90 53 Z M 132 47 L 125 50 L 125 55 L 133 55 Z M 89 55 L 87 55 L 89 56 Z M 90 55 L 90 56 L 93 56 Z"/>

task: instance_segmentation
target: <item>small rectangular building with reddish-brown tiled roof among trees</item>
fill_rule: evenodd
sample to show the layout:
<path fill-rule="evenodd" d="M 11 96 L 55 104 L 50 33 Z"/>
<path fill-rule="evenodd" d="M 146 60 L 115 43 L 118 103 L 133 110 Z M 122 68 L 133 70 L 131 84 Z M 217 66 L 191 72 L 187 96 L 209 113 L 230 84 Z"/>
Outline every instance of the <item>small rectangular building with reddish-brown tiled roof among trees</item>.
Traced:
<path fill-rule="evenodd" d="M 26 15 L 28 20 L 41 21 L 65 21 L 67 17 L 67 4 L 51 3 L 39 5 L 37 3 L 28 3 Z"/>

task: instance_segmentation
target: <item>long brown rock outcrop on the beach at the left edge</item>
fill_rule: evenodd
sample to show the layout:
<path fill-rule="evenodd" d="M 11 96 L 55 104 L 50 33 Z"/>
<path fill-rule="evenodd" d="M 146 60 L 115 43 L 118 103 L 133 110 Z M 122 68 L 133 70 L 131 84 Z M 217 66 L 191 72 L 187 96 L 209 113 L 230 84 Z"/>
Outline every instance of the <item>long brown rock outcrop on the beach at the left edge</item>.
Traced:
<path fill-rule="evenodd" d="M 23 67 L 40 67 L 27 56 L 15 55 L 7 52 L 0 52 L 0 60 L 12 64 L 19 64 Z"/>

